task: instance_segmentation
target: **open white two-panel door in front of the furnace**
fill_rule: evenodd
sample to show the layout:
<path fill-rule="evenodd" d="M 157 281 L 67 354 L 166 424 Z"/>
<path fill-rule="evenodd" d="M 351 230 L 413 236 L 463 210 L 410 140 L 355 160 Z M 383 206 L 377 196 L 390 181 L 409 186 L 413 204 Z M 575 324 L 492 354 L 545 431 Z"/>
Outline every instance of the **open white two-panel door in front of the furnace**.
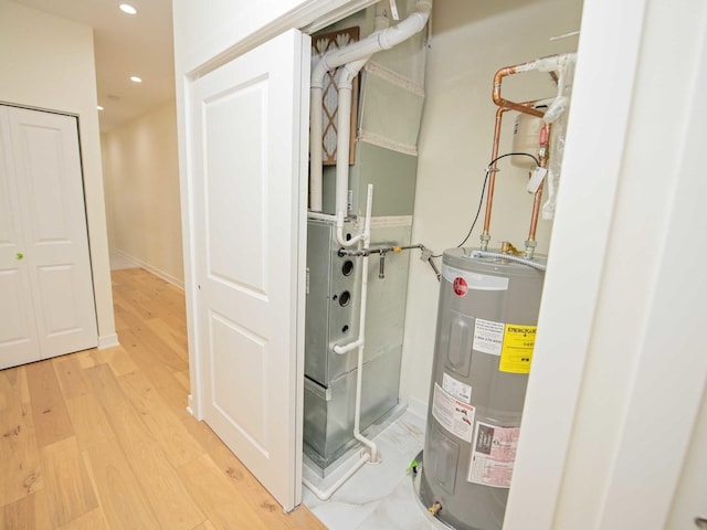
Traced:
<path fill-rule="evenodd" d="M 201 410 L 286 511 L 302 497 L 308 54 L 292 30 L 191 91 Z"/>

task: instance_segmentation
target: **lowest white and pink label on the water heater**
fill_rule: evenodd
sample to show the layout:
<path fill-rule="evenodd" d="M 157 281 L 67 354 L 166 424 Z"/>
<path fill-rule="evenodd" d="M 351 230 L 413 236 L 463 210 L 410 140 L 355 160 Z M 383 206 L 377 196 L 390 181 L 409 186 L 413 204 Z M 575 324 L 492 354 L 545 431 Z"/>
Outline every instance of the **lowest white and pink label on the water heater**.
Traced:
<path fill-rule="evenodd" d="M 519 434 L 519 427 L 498 427 L 477 422 L 466 480 L 494 488 L 509 488 Z"/>

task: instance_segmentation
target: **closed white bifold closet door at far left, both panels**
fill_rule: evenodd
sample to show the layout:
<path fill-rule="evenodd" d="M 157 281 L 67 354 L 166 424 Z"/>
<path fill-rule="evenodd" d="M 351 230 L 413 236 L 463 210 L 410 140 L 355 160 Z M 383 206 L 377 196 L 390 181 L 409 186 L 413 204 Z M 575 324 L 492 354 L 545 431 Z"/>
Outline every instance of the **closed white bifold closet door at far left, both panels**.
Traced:
<path fill-rule="evenodd" d="M 4 106 L 0 116 L 0 201 L 10 203 L 0 214 L 6 368 L 98 339 L 76 118 Z"/>

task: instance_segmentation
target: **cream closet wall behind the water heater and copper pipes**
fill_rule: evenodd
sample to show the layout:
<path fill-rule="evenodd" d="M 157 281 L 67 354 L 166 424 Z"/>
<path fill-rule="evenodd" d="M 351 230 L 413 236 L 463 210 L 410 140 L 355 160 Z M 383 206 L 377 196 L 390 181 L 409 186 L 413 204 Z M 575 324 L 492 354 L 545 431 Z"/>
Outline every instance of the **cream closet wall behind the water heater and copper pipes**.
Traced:
<path fill-rule="evenodd" d="M 490 99 L 497 70 L 556 53 L 573 52 L 577 38 L 549 38 L 579 29 L 580 0 L 443 0 L 433 4 L 432 43 L 428 53 L 425 106 L 413 221 L 414 242 L 441 254 L 466 235 L 476 213 L 490 161 L 497 107 Z M 552 97 L 548 74 L 506 77 L 503 95 L 511 100 Z M 506 113 L 499 155 L 511 149 L 517 113 Z M 528 235 L 532 195 L 527 172 L 509 159 L 499 161 L 490 224 L 490 247 L 511 241 L 518 248 Z M 465 246 L 478 246 L 479 220 Z M 551 223 L 540 221 L 539 253 L 547 253 Z M 429 266 L 411 262 L 401 396 L 426 414 L 440 284 Z"/>

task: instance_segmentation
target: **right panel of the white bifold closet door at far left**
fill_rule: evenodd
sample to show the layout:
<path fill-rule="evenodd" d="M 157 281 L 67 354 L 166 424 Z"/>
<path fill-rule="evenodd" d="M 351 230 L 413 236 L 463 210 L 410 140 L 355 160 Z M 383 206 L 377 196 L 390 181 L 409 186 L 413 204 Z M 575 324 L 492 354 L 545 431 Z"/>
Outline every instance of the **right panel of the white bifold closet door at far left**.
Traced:
<path fill-rule="evenodd" d="M 98 343 L 76 118 L 10 108 L 42 359 Z"/>

